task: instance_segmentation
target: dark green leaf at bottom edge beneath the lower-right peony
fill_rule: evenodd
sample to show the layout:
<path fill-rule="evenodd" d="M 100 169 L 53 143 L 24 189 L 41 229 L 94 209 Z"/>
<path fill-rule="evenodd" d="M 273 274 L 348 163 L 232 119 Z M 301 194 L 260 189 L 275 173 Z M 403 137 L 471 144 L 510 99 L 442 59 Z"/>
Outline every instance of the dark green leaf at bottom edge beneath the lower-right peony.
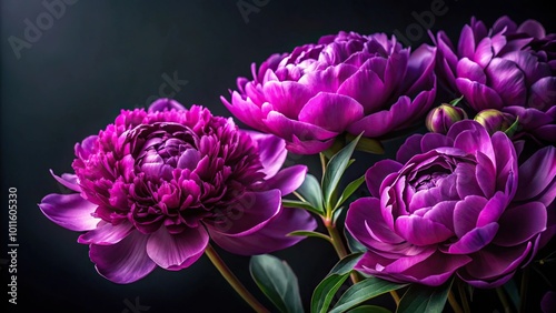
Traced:
<path fill-rule="evenodd" d="M 453 281 L 437 287 L 413 284 L 399 301 L 396 312 L 443 312 Z"/>

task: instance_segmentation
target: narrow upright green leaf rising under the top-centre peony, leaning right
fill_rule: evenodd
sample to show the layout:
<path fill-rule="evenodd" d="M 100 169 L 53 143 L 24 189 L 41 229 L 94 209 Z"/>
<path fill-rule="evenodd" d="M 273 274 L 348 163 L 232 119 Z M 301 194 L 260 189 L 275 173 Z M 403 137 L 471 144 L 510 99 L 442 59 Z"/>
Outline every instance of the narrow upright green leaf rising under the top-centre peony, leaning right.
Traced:
<path fill-rule="evenodd" d="M 335 208 L 332 202 L 332 194 L 335 193 L 338 184 L 346 171 L 347 166 L 350 164 L 351 154 L 354 154 L 354 149 L 361 135 L 359 134 L 354 141 L 344 147 L 338 153 L 336 153 L 328 164 L 326 165 L 325 174 L 322 176 L 322 192 L 325 195 L 326 208 Z"/>

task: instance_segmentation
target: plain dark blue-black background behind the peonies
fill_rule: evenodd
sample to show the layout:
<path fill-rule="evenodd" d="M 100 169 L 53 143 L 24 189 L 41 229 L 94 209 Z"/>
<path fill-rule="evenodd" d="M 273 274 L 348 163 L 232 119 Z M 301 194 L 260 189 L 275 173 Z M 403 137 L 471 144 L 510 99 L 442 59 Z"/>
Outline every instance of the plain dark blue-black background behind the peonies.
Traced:
<path fill-rule="evenodd" d="M 88 246 L 77 243 L 78 234 L 47 220 L 37 206 L 42 196 L 60 192 L 49 169 L 71 171 L 73 144 L 98 133 L 120 109 L 146 107 L 163 95 L 159 88 L 165 75 L 187 81 L 173 91 L 166 89 L 186 107 L 202 104 L 215 114 L 229 115 L 219 97 L 228 97 L 238 75 L 250 75 L 251 62 L 260 64 L 271 53 L 291 51 L 340 30 L 405 33 L 416 22 L 411 12 L 430 10 L 433 1 L 259 0 L 255 2 L 265 6 L 249 13 L 248 20 L 237 0 L 75 2 L 66 4 L 51 26 L 43 24 L 40 37 L 36 34 L 18 58 L 9 38 L 24 40 L 26 19 L 37 26 L 37 18 L 48 11 L 41 1 L 1 1 L 2 251 L 10 186 L 18 189 L 20 244 L 19 304 L 10 305 L 9 312 L 133 312 L 126 303 L 136 300 L 149 306 L 148 312 L 249 312 L 206 256 L 187 270 L 157 269 L 129 285 L 98 275 Z M 556 17 L 547 4 L 445 0 L 448 11 L 436 17 L 431 29 L 445 29 L 457 39 L 473 14 L 488 26 L 508 14 L 517 22 L 536 19 L 554 32 Z M 426 34 L 414 41 L 415 47 L 430 43 Z M 307 162 L 318 170 L 314 159 L 288 162 Z M 255 291 L 249 259 L 220 252 Z M 275 255 L 286 259 L 298 274 L 306 305 L 336 262 L 331 246 L 317 239 Z M 2 252 L 2 290 L 8 283 L 7 259 Z M 258 291 L 255 294 L 262 299 Z M 1 297 L 6 305 L 7 293 Z M 29 311 L 30 305 L 38 309 Z"/>

